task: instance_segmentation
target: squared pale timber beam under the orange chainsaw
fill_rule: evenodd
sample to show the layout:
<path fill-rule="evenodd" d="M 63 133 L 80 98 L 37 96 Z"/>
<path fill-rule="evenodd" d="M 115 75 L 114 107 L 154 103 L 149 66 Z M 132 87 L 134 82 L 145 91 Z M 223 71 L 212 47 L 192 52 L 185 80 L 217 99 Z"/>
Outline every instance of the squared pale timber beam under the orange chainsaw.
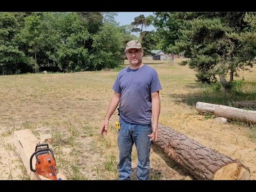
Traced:
<path fill-rule="evenodd" d="M 20 158 L 24 163 L 27 170 L 28 176 L 31 180 L 50 180 L 42 175 L 38 175 L 30 170 L 30 157 L 35 152 L 36 144 L 38 143 L 37 138 L 32 134 L 31 130 L 20 130 L 14 131 L 14 145 L 16 146 Z M 32 159 L 33 168 L 35 168 L 36 160 L 35 157 Z M 58 166 L 58 165 L 57 165 Z M 66 177 L 57 168 L 57 178 L 61 180 L 66 180 Z"/>

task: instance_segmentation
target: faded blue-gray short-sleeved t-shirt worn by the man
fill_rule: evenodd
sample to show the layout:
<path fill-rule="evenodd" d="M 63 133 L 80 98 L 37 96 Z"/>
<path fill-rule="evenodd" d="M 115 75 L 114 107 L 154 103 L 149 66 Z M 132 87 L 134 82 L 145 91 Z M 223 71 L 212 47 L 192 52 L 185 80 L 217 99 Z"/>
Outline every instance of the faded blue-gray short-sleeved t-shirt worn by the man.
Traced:
<path fill-rule="evenodd" d="M 151 93 L 161 89 L 158 74 L 150 66 L 121 70 L 113 85 L 113 90 L 121 94 L 120 117 L 130 123 L 151 124 Z"/>

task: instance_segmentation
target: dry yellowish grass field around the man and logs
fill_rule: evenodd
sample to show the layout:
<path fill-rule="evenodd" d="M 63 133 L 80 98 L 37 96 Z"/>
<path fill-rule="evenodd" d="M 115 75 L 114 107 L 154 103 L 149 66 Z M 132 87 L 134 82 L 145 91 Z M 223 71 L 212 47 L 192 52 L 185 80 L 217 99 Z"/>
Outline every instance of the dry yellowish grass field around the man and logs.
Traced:
<path fill-rule="evenodd" d="M 198 101 L 232 106 L 234 100 L 256 100 L 256 66 L 240 72 L 246 84 L 241 94 L 196 82 L 194 70 L 164 61 L 144 61 L 159 74 L 159 122 L 250 168 L 256 179 L 256 126 L 240 122 L 214 124 L 211 115 L 198 118 Z M 126 62 L 123 67 L 127 67 Z M 0 76 L 0 179 L 29 179 L 13 143 L 15 130 L 30 129 L 54 150 L 57 165 L 68 179 L 117 179 L 117 111 L 108 134 L 100 126 L 113 95 L 112 85 L 121 69 L 98 72 L 22 74 Z M 132 153 L 132 178 L 136 179 L 136 148 Z M 182 180 L 188 173 L 155 146 L 150 156 L 150 179 Z"/>

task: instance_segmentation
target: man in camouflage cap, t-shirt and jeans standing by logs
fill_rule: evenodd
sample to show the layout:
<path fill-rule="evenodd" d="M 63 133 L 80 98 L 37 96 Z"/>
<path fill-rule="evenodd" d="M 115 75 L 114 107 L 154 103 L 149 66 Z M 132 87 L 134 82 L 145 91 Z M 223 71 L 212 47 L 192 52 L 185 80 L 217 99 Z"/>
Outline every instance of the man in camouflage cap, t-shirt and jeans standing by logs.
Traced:
<path fill-rule="evenodd" d="M 102 123 L 101 134 L 107 133 L 109 119 L 120 102 L 119 179 L 130 180 L 132 146 L 135 143 L 138 153 L 137 179 L 148 180 L 150 145 L 152 140 L 157 140 L 159 90 L 162 87 L 156 70 L 142 63 L 143 50 L 140 42 L 129 41 L 124 52 L 130 65 L 119 72 L 113 85 L 114 96 Z"/>

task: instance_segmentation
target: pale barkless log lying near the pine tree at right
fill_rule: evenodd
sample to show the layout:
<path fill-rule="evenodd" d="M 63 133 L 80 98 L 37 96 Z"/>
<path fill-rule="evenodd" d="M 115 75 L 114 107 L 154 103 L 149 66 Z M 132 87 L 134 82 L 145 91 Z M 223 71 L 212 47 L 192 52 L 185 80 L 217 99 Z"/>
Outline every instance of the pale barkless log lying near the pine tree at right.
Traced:
<path fill-rule="evenodd" d="M 204 102 L 197 102 L 196 110 L 199 112 L 213 113 L 216 116 L 225 117 L 227 119 L 256 124 L 256 111 L 253 110 L 244 110 L 225 105 L 216 105 Z"/>

